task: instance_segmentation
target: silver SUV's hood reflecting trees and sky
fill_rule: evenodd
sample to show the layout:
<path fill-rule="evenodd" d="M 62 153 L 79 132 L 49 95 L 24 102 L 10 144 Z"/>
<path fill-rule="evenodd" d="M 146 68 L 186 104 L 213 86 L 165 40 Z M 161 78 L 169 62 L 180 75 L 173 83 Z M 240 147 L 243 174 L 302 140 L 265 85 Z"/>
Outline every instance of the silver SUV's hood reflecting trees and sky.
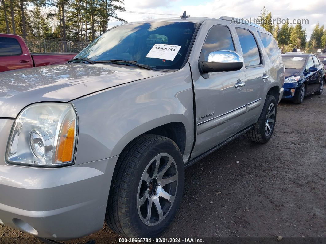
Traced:
<path fill-rule="evenodd" d="M 164 74 L 132 66 L 63 64 L 0 73 L 0 117 L 15 118 L 25 106 L 68 102 L 113 86 Z"/>

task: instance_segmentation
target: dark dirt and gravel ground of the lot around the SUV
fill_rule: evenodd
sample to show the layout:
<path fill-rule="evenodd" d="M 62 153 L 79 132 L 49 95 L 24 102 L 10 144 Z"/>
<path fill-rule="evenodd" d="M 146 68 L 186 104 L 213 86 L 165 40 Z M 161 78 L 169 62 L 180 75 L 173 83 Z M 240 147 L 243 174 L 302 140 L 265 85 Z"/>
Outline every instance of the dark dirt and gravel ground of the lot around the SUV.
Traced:
<path fill-rule="evenodd" d="M 325 93 L 281 102 L 267 144 L 241 136 L 189 167 L 181 208 L 162 237 L 326 237 Z M 104 226 L 78 242 L 101 236 L 119 238 Z M 39 241 L 2 225 L 1 242 Z"/>

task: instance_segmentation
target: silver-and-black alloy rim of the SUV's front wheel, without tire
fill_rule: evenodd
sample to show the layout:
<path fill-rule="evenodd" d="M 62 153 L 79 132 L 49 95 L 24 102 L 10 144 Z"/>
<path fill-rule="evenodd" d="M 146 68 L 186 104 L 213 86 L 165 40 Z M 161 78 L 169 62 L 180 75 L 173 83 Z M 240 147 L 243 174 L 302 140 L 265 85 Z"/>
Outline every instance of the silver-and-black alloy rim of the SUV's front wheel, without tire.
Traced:
<path fill-rule="evenodd" d="M 149 226 L 162 222 L 170 212 L 178 187 L 178 169 L 170 154 L 156 155 L 146 166 L 138 186 L 137 209 Z"/>

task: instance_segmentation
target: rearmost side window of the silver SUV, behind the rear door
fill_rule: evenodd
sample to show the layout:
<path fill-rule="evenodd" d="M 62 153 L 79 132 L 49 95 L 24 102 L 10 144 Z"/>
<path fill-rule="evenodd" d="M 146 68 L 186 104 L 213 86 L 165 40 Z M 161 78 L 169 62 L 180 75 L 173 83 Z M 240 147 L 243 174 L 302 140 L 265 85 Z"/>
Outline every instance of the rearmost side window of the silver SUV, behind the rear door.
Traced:
<path fill-rule="evenodd" d="M 274 37 L 262 32 L 258 34 L 271 64 L 281 64 L 282 56 Z"/>

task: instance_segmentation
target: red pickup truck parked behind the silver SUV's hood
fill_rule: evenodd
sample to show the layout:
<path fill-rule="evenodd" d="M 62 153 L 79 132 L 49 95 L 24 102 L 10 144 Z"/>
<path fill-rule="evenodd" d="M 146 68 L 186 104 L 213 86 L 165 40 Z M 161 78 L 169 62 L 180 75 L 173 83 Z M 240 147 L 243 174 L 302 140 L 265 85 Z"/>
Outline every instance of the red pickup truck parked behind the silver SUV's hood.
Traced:
<path fill-rule="evenodd" d="M 76 55 L 77 53 L 31 53 L 22 37 L 0 34 L 0 72 L 63 64 Z"/>

